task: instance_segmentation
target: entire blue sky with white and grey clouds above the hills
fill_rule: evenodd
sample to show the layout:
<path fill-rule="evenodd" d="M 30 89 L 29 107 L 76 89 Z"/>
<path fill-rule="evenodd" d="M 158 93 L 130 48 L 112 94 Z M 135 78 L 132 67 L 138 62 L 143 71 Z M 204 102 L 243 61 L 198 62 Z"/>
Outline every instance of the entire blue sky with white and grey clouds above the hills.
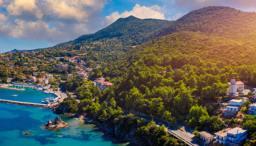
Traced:
<path fill-rule="evenodd" d="M 256 11 L 255 0 L 0 0 L 0 53 L 52 47 L 131 15 L 177 20 L 207 6 Z"/>

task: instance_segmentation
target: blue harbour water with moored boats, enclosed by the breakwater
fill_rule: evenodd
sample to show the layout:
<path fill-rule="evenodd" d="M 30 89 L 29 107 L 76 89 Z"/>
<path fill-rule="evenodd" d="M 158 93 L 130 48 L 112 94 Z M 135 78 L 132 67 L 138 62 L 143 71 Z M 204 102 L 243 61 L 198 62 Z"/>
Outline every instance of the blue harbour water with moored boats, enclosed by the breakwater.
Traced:
<path fill-rule="evenodd" d="M 9 86 L 15 88 L 22 88 L 18 86 Z M 56 98 L 57 96 L 54 94 L 45 94 L 42 91 L 36 91 L 33 88 L 26 88 L 26 91 L 17 91 L 17 90 L 9 90 L 9 89 L 2 89 L 0 88 L 0 99 L 4 100 L 13 100 L 18 102 L 29 102 L 29 103 L 41 103 L 42 99 L 47 97 Z M 18 94 L 16 97 L 12 97 L 11 95 Z"/>

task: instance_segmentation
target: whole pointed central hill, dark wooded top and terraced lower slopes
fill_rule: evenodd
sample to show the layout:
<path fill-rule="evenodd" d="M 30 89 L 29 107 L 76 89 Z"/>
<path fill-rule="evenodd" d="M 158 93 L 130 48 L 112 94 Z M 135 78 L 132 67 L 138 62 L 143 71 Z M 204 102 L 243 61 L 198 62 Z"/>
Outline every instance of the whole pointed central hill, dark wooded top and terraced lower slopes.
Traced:
<path fill-rule="evenodd" d="M 55 57 L 77 54 L 82 60 L 115 61 L 123 58 L 123 53 L 132 46 L 141 44 L 151 33 L 173 21 L 139 19 L 134 16 L 119 18 L 108 27 L 96 33 L 83 35 L 73 41 L 46 48 Z M 61 52 L 67 51 L 67 52 Z"/>

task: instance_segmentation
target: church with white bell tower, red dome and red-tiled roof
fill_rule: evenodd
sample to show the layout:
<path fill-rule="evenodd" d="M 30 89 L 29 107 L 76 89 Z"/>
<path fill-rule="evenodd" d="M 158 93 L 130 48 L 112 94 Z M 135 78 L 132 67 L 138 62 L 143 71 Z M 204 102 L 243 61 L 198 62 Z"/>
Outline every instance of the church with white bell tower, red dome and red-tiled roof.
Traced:
<path fill-rule="evenodd" d="M 239 91 L 244 90 L 244 83 L 241 81 L 236 82 L 234 75 L 231 78 L 231 82 L 228 82 L 227 84 L 229 84 L 226 92 L 229 94 L 228 96 L 237 95 Z"/>

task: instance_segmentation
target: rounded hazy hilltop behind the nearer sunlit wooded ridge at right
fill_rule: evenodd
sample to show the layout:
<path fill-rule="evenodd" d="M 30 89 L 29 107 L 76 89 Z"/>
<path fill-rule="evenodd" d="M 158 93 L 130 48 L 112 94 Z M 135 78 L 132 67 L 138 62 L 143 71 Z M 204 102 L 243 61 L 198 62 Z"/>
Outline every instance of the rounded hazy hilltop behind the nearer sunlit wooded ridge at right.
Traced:
<path fill-rule="evenodd" d="M 242 40 L 254 46 L 256 13 L 230 7 L 211 6 L 194 10 L 145 38 L 149 41 L 177 31 L 200 31 L 206 35 Z"/>

